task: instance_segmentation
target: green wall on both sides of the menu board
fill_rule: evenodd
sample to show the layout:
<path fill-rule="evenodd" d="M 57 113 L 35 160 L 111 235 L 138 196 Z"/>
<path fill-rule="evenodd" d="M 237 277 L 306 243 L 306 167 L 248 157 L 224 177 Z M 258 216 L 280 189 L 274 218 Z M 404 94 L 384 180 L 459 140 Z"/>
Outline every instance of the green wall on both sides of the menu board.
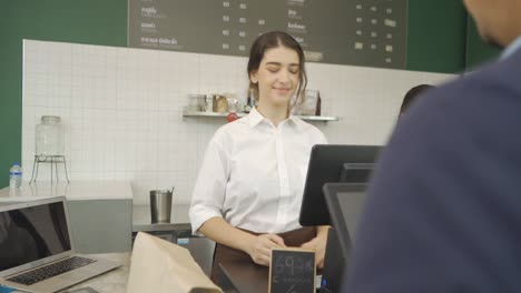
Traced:
<path fill-rule="evenodd" d="M 128 7 L 127 0 L 0 1 L 2 188 L 12 162 L 21 160 L 22 39 L 126 47 Z M 454 73 L 494 55 L 475 28 L 466 33 L 468 21 L 461 1 L 410 0 L 406 68 Z"/>

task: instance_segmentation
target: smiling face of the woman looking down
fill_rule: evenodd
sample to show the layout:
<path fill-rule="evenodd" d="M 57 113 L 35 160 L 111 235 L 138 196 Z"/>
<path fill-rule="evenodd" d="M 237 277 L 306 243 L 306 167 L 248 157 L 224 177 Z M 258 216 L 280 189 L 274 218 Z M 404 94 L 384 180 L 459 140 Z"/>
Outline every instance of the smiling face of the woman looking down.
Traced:
<path fill-rule="evenodd" d="M 281 46 L 264 53 L 258 70 L 249 79 L 258 84 L 260 103 L 286 107 L 298 88 L 298 73 L 297 52 Z"/>

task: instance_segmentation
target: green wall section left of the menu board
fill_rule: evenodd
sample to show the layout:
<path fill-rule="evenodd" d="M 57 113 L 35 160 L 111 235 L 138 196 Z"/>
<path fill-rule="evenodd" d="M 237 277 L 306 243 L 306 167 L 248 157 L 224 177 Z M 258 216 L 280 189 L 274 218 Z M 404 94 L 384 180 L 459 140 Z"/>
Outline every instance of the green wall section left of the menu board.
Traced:
<path fill-rule="evenodd" d="M 22 39 L 127 46 L 127 0 L 1 0 L 0 188 L 21 160 Z"/>

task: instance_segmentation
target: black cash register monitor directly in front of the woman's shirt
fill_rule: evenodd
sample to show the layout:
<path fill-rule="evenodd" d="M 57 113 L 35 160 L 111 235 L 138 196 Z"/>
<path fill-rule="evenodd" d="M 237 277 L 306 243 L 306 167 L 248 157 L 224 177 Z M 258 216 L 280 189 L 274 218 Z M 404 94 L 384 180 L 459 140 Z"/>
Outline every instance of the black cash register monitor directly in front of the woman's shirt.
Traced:
<path fill-rule="evenodd" d="M 316 144 L 307 168 L 298 221 L 303 226 L 331 225 L 324 199 L 325 183 L 366 183 L 379 145 Z"/>

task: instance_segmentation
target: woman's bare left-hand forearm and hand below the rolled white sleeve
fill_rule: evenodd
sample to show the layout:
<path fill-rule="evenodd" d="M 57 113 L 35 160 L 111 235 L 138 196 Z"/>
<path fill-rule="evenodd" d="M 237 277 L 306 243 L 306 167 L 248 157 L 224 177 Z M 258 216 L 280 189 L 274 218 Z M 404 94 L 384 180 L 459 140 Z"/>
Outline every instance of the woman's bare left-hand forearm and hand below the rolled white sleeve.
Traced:
<path fill-rule="evenodd" d="M 275 234 L 253 235 L 234 228 L 219 216 L 208 219 L 199 232 L 213 241 L 249 254 L 252 260 L 262 265 L 269 265 L 273 247 L 285 247 L 284 240 Z"/>

